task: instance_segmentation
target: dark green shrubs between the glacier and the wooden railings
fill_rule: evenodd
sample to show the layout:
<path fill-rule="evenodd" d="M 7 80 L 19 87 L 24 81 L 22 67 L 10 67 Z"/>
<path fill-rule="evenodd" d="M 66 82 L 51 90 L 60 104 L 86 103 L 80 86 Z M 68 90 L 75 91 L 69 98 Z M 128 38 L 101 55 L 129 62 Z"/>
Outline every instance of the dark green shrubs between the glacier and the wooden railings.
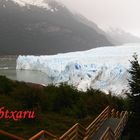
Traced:
<path fill-rule="evenodd" d="M 65 84 L 42 87 L 0 76 L 0 107 L 11 111 L 35 111 L 34 119 L 0 120 L 0 129 L 24 138 L 42 129 L 60 136 L 76 122 L 88 126 L 108 105 L 126 110 L 127 101 L 99 90 L 85 93 Z"/>

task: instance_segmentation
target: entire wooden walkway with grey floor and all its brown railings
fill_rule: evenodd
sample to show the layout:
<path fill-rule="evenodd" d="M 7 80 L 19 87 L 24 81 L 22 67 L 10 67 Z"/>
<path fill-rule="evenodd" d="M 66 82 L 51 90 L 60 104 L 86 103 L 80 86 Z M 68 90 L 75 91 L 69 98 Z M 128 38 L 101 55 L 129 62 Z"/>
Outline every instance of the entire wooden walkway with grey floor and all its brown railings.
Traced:
<path fill-rule="evenodd" d="M 87 128 L 76 123 L 59 138 L 46 130 L 42 130 L 28 140 L 118 140 L 127 120 L 127 111 L 119 112 L 108 106 Z M 25 140 L 0 130 L 0 140 L 2 136 L 4 138 L 2 140 Z"/>

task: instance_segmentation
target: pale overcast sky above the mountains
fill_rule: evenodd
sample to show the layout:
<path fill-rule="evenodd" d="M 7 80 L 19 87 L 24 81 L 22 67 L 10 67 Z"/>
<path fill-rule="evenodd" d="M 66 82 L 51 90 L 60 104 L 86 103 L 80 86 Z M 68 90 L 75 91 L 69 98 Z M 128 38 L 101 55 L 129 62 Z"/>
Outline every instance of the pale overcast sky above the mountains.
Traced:
<path fill-rule="evenodd" d="M 57 0 L 99 27 L 119 27 L 140 37 L 140 0 Z"/>

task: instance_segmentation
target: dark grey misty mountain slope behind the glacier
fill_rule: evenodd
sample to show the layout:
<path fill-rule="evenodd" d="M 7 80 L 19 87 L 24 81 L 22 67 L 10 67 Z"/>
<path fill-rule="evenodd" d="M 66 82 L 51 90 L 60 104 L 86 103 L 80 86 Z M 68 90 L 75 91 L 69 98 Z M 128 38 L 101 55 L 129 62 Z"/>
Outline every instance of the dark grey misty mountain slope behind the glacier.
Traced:
<path fill-rule="evenodd" d="M 111 45 L 61 4 L 49 5 L 53 12 L 0 1 L 0 54 L 55 54 Z"/>

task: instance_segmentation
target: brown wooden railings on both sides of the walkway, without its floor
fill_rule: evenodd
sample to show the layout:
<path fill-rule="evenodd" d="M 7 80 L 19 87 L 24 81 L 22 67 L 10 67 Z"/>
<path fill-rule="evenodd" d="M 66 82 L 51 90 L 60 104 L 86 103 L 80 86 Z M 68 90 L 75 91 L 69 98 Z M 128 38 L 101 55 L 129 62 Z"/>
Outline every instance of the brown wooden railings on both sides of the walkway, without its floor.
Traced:
<path fill-rule="evenodd" d="M 89 140 L 95 134 L 95 132 L 100 128 L 102 123 L 110 117 L 119 118 L 120 122 L 118 123 L 114 132 L 110 127 L 108 127 L 104 131 L 103 135 L 100 137 L 100 140 L 107 140 L 107 139 L 117 140 L 121 135 L 121 131 L 124 129 L 124 126 L 126 125 L 128 119 L 128 112 L 122 111 L 120 113 L 119 111 L 115 111 L 115 109 L 111 111 L 109 106 L 106 107 L 87 128 L 83 127 L 79 123 L 76 123 L 67 132 L 65 132 L 60 138 L 56 137 L 55 135 L 53 135 L 48 131 L 41 130 L 36 135 L 29 138 L 29 140 L 38 140 L 38 139 L 43 140 L 45 138 L 51 140 Z M 3 130 L 0 130 L 0 134 L 3 134 L 15 140 L 24 140 L 24 138 L 15 136 Z"/>

